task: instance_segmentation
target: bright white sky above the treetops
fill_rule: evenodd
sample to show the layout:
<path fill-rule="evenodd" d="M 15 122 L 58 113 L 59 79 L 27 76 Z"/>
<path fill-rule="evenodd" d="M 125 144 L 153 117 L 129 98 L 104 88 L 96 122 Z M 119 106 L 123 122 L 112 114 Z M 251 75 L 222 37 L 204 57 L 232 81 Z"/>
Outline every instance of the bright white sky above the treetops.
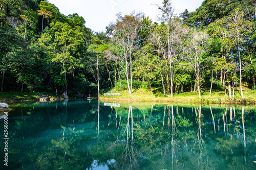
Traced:
<path fill-rule="evenodd" d="M 48 0 L 58 7 L 64 15 L 77 13 L 86 20 L 85 26 L 94 32 L 105 31 L 110 22 L 116 21 L 116 14 L 131 14 L 133 11 L 143 12 L 153 22 L 157 22 L 158 7 L 163 0 Z M 195 11 L 204 0 L 173 0 L 175 13 L 181 13 L 185 9 Z"/>

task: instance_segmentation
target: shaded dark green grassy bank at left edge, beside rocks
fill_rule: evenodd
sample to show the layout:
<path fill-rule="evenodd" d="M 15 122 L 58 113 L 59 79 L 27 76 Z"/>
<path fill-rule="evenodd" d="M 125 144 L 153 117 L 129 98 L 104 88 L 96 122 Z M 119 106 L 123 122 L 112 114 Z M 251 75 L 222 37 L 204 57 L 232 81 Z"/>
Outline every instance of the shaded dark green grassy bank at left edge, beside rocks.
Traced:
<path fill-rule="evenodd" d="M 56 96 L 53 93 L 47 92 L 1 92 L 0 93 L 0 102 L 12 102 L 12 101 L 32 101 L 39 100 L 39 94 L 46 94 L 49 96 L 50 100 L 60 99 L 61 96 Z"/>

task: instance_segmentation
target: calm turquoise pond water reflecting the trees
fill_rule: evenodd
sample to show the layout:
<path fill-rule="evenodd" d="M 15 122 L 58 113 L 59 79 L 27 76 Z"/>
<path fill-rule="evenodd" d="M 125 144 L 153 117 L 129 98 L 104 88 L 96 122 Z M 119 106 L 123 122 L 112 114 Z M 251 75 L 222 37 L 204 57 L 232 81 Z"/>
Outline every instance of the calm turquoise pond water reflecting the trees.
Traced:
<path fill-rule="evenodd" d="M 256 107 L 11 104 L 0 169 L 256 169 Z"/>

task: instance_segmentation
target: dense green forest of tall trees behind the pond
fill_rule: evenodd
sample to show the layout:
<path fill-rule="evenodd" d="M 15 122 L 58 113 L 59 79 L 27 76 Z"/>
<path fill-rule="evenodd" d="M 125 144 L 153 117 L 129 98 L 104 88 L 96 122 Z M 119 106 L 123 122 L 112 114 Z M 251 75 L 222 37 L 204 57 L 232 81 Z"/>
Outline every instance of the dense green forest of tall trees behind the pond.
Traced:
<path fill-rule="evenodd" d="M 256 0 L 205 0 L 181 14 L 163 0 L 158 22 L 118 13 L 104 32 L 48 1 L 0 0 L 0 8 L 1 92 L 69 99 L 159 88 L 162 96 L 194 91 L 201 98 L 214 84 L 243 98 L 243 86 L 256 89 Z"/>

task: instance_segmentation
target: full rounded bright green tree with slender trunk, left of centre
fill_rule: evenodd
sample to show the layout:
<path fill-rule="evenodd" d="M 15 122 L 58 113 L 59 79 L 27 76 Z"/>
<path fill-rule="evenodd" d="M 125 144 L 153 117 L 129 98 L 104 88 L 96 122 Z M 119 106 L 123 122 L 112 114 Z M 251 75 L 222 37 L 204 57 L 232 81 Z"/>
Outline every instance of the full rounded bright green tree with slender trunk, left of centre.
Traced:
<path fill-rule="evenodd" d="M 74 56 L 84 45 L 83 34 L 68 23 L 52 22 L 50 26 L 51 29 L 42 34 L 39 42 L 47 49 L 52 62 L 60 64 L 60 74 L 64 75 L 65 83 L 63 94 L 68 99 L 67 72 L 78 66 L 79 60 Z"/>

